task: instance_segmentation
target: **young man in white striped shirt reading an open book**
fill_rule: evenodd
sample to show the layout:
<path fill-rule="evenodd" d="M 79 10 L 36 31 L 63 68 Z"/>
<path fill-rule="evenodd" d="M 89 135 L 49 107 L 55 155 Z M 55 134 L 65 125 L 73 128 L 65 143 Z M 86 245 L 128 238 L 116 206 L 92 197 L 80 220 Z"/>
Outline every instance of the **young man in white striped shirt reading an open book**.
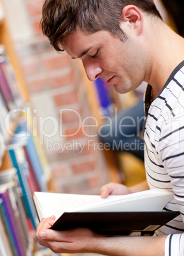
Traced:
<path fill-rule="evenodd" d="M 56 50 L 82 60 L 89 80 L 100 77 L 120 93 L 143 81 L 150 84 L 145 96 L 147 181 L 131 188 L 104 185 L 101 197 L 165 188 L 174 195 L 165 210 L 181 215 L 149 238 L 52 231 L 51 217 L 38 225 L 39 243 L 57 253 L 184 255 L 184 39 L 162 22 L 152 0 L 46 0 L 42 28 Z"/>

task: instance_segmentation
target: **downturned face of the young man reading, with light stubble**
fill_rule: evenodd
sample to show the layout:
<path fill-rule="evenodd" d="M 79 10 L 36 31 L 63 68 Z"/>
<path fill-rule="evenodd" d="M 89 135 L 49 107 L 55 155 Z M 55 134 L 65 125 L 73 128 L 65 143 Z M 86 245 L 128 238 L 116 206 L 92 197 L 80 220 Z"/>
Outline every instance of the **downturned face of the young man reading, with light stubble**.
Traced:
<path fill-rule="evenodd" d="M 101 78 L 117 92 L 129 92 L 143 82 L 143 58 L 134 38 L 122 42 L 108 31 L 76 31 L 67 36 L 64 50 L 82 60 L 89 80 Z"/>

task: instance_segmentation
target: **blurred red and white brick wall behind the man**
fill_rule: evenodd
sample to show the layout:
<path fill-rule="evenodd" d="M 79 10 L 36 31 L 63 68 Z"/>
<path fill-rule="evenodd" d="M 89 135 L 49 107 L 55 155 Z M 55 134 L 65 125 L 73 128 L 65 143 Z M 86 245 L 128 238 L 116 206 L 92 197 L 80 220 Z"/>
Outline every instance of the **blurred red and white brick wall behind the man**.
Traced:
<path fill-rule="evenodd" d="M 52 169 L 53 187 L 56 192 L 96 194 L 109 175 L 103 151 L 97 148 L 97 127 L 89 118 L 92 110 L 78 62 L 55 52 L 41 34 L 43 1 L 24 3 L 34 34 L 15 41 L 15 47 L 38 116 L 40 143 Z"/>

